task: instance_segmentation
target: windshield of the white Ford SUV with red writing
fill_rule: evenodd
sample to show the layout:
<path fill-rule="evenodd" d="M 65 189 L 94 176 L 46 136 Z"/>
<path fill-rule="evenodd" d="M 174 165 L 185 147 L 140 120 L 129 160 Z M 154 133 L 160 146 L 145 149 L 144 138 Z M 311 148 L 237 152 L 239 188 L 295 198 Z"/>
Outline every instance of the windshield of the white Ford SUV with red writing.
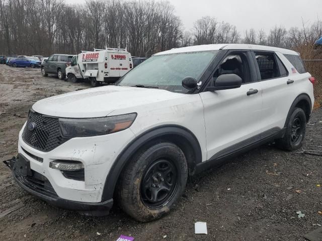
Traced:
<path fill-rule="evenodd" d="M 182 80 L 188 76 L 199 80 L 217 53 L 218 50 L 154 55 L 124 75 L 118 84 L 186 93 Z"/>

